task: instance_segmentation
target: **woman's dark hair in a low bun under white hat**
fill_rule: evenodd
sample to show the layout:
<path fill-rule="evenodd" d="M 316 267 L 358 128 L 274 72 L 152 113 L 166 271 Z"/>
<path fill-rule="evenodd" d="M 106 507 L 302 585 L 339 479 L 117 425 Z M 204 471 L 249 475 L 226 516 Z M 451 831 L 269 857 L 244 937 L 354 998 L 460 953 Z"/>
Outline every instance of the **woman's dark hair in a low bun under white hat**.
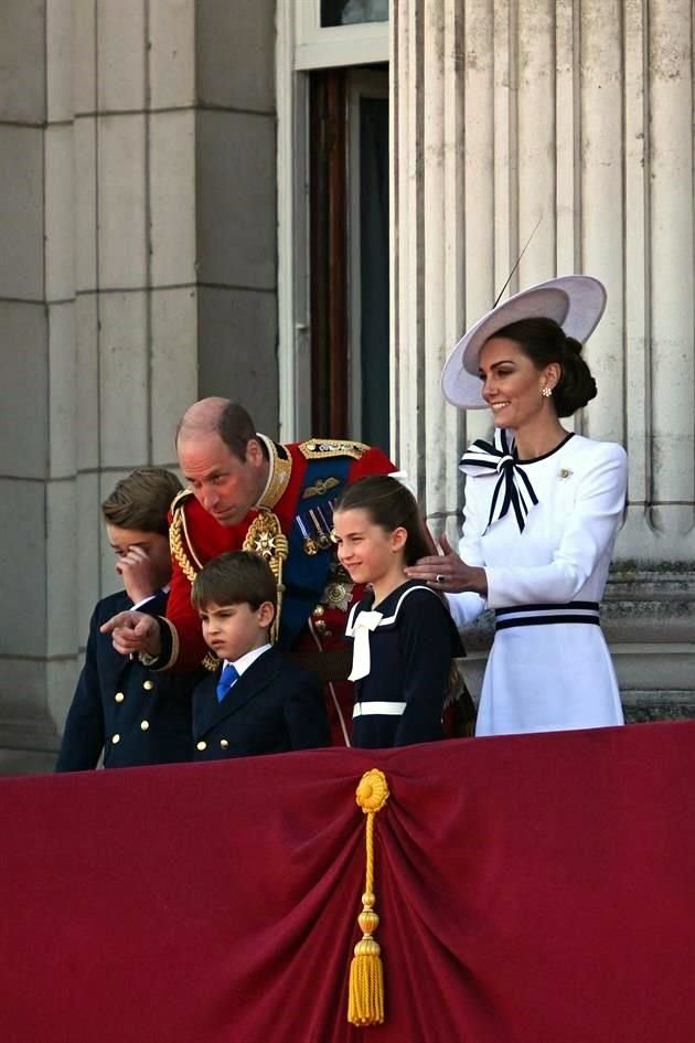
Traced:
<path fill-rule="evenodd" d="M 581 358 L 581 344 L 574 337 L 567 337 L 554 319 L 520 319 L 493 336 L 516 341 L 537 370 L 543 370 L 550 362 L 559 364 L 560 379 L 553 389 L 553 402 L 558 416 L 571 416 L 591 398 L 596 398 L 596 381 Z"/>

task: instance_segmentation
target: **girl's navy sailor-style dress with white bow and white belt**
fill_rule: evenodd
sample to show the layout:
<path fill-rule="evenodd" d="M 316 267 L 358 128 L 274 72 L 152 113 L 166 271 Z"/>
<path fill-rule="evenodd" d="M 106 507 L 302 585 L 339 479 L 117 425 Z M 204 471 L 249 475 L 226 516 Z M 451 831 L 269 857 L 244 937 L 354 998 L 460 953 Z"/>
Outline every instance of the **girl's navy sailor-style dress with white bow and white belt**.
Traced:
<path fill-rule="evenodd" d="M 410 579 L 375 609 L 370 592 L 353 605 L 345 636 L 354 640 L 352 745 L 384 748 L 443 738 L 451 660 L 464 652 L 441 598 Z"/>

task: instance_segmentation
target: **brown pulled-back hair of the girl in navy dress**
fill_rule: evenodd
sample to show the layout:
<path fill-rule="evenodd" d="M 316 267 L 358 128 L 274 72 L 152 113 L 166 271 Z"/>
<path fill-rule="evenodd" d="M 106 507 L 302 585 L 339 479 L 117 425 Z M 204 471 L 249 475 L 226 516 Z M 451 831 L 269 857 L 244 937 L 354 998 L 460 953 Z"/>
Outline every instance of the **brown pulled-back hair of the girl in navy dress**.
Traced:
<path fill-rule="evenodd" d="M 406 565 L 414 565 L 418 558 L 434 553 L 417 500 L 396 478 L 370 475 L 346 486 L 333 504 L 333 512 L 353 510 L 366 511 L 372 522 L 386 532 L 405 529 L 408 534 Z"/>

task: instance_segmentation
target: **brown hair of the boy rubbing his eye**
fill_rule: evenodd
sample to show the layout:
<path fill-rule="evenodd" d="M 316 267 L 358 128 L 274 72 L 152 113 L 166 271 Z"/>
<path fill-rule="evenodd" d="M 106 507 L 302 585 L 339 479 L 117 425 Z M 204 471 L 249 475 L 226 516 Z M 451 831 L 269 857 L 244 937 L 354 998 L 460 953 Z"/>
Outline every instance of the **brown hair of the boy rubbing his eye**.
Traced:
<path fill-rule="evenodd" d="M 119 529 L 169 533 L 171 501 L 181 492 L 181 482 L 163 467 L 139 467 L 116 482 L 101 504 L 104 520 Z"/>

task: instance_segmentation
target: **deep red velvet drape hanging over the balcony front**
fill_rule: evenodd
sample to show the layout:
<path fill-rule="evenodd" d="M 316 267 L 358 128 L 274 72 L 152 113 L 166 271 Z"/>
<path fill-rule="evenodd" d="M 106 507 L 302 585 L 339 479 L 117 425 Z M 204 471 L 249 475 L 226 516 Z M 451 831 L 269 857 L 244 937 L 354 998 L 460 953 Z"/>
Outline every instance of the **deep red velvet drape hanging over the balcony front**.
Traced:
<path fill-rule="evenodd" d="M 0 781 L 2 1043 L 692 1043 L 695 724 Z M 376 817 L 386 1023 L 346 1022 Z"/>

